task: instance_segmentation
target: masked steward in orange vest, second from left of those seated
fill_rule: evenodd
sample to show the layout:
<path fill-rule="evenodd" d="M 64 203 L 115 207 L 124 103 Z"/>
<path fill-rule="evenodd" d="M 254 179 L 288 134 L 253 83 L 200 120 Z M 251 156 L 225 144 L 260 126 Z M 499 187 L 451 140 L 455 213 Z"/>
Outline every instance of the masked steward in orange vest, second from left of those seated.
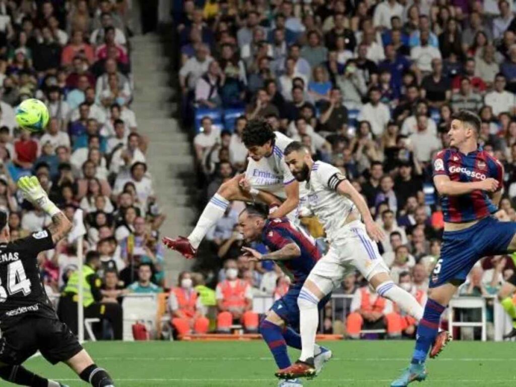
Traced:
<path fill-rule="evenodd" d="M 251 311 L 252 293 L 249 283 L 238 279 L 238 269 L 234 260 L 224 264 L 226 279 L 217 284 L 217 330 L 229 332 L 234 320 L 240 321 L 246 331 L 258 329 L 258 315 Z"/>

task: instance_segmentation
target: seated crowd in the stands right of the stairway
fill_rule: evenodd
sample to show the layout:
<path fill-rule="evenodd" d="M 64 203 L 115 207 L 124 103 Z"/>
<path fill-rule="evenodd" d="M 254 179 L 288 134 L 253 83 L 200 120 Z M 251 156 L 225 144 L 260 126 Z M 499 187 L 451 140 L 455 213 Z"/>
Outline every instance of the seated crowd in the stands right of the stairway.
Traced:
<path fill-rule="evenodd" d="M 431 160 L 448 145 L 451 114 L 470 109 L 482 120 L 480 145 L 505 168 L 496 216 L 516 220 L 512 2 L 185 0 L 174 22 L 182 118 L 195 134 L 201 202 L 245 170 L 242 131 L 249 119 L 263 118 L 342 170 L 386 234 L 379 248 L 393 279 L 424 303 L 444 226 Z M 207 235 L 195 269 L 217 285 L 217 300 L 226 281 L 247 283 L 233 317 L 252 331 L 253 317 L 243 318 L 247 300 L 281 295 L 288 278 L 271 262 L 241 255 L 242 206 L 233 202 Z M 317 219 L 301 221 L 324 251 Z M 486 257 L 460 294 L 496 294 L 514 270 L 509 257 Z M 414 333 L 413 320 L 364 285 L 356 274 L 345 279 L 335 293 L 352 300 L 326 309 L 322 331 L 358 337 L 366 325 Z M 221 319 L 219 330 L 231 323 Z"/>

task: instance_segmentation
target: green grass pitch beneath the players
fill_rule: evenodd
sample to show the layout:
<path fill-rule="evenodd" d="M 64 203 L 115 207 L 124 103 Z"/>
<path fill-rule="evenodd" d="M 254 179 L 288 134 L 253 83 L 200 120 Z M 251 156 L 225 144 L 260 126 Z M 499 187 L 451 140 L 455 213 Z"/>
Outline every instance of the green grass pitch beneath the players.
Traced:
<path fill-rule="evenodd" d="M 405 367 L 410 341 L 334 341 L 326 345 L 334 358 L 305 386 L 388 386 Z M 98 342 L 86 344 L 117 387 L 243 386 L 272 387 L 276 365 L 265 344 L 253 342 Z M 292 359 L 297 351 L 291 352 Z M 514 386 L 516 344 L 453 342 L 428 363 L 429 377 L 417 387 Z M 41 357 L 25 366 L 70 386 L 85 386 L 65 366 Z M 12 385 L 7 383 L 8 385 Z M 7 385 L 2 383 L 2 385 Z"/>

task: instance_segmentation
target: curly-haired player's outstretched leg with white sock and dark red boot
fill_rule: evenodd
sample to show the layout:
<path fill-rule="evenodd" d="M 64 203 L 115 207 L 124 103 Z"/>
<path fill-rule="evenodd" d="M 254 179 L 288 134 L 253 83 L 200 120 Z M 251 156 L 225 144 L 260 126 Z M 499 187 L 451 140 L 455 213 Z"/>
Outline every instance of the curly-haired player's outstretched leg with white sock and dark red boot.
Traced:
<path fill-rule="evenodd" d="M 238 182 L 245 177 L 241 173 L 234 178 L 222 183 L 217 193 L 209 200 L 208 204 L 197 221 L 196 227 L 190 233 L 188 238 L 179 237 L 177 239 L 163 238 L 163 243 L 167 247 L 179 251 L 187 258 L 192 258 L 197 253 L 197 248 L 201 244 L 202 239 L 219 219 L 224 216 L 230 201 L 252 201 L 252 197 L 244 192 Z"/>

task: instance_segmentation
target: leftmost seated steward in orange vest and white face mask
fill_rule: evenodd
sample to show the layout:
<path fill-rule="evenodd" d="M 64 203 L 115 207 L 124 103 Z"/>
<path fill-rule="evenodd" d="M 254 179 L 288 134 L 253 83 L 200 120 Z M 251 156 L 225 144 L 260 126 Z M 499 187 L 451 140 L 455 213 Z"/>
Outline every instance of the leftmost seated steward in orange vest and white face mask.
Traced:
<path fill-rule="evenodd" d="M 193 281 L 188 271 L 180 273 L 178 286 L 170 289 L 168 302 L 172 326 L 179 336 L 208 331 L 209 320 L 204 316 L 204 305 L 193 289 Z"/>

